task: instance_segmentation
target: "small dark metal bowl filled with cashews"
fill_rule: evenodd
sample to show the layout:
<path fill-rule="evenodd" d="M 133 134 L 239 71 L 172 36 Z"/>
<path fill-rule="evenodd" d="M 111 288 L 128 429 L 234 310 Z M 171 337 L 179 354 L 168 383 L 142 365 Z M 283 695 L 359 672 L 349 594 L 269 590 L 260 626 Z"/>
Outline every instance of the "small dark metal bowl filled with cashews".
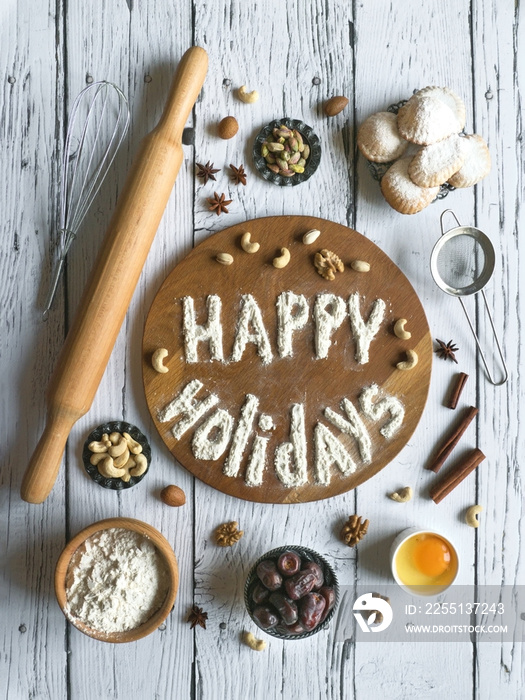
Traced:
<path fill-rule="evenodd" d="M 106 489 L 129 489 L 146 476 L 151 448 L 135 425 L 111 421 L 93 430 L 82 452 L 89 476 Z"/>

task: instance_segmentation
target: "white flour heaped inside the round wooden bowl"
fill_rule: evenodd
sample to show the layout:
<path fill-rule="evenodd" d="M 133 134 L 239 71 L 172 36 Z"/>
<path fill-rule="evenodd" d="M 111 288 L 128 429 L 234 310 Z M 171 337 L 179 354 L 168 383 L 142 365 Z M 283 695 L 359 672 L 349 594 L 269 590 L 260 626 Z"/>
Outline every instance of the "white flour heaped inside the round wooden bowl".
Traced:
<path fill-rule="evenodd" d="M 162 605 L 166 565 L 145 536 L 102 530 L 74 554 L 67 574 L 66 613 L 106 634 L 135 629 Z"/>

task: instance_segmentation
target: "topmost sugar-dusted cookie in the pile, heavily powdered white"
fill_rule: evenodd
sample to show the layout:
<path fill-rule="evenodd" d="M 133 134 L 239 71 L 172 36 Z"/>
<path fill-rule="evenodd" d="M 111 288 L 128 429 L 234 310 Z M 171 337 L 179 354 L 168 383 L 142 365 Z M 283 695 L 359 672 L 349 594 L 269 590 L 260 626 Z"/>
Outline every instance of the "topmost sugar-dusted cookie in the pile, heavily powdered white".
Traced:
<path fill-rule="evenodd" d="M 397 115 L 402 138 L 421 146 L 429 146 L 461 131 L 460 123 L 450 107 L 434 95 L 413 95 Z"/>

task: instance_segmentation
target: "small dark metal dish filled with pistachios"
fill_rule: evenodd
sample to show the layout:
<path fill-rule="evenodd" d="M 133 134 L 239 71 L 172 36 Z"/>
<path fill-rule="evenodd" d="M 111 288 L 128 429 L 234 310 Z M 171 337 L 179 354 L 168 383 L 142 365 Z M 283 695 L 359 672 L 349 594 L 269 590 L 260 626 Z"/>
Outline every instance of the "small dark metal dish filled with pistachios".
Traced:
<path fill-rule="evenodd" d="M 299 119 L 277 119 L 257 134 L 255 167 L 268 182 L 293 187 L 306 182 L 321 162 L 321 142 L 311 126 Z"/>

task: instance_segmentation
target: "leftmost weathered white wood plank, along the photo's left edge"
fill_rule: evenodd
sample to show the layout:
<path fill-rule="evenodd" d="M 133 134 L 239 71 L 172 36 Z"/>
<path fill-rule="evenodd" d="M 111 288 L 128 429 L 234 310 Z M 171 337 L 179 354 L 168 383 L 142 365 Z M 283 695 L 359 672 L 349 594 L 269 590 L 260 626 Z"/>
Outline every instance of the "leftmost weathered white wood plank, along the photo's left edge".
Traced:
<path fill-rule="evenodd" d="M 0 695 L 5 698 L 65 697 L 67 690 L 65 620 L 53 595 L 54 563 L 65 537 L 63 476 L 42 506 L 30 506 L 19 495 L 45 419 L 43 388 L 64 332 L 60 311 L 47 324 L 41 318 L 58 192 L 61 21 L 55 3 L 42 3 L 4 7 L 0 22 Z"/>

